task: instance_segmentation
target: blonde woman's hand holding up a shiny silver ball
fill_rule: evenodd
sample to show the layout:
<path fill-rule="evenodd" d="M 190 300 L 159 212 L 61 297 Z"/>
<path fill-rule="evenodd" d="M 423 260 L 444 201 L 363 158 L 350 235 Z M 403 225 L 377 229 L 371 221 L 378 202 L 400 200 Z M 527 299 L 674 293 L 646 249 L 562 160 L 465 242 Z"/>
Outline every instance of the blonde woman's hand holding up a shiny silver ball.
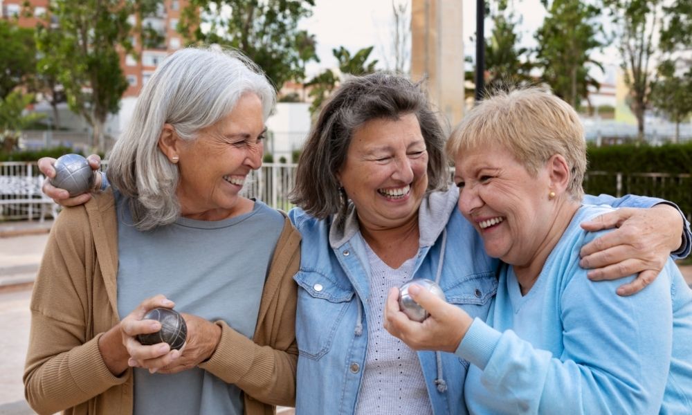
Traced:
<path fill-rule="evenodd" d="M 409 320 L 399 309 L 399 289 L 391 288 L 385 304 L 385 329 L 411 349 L 454 353 L 473 319 L 461 308 L 442 301 L 417 284 L 409 286 L 408 293 L 430 317 L 422 323 Z"/>

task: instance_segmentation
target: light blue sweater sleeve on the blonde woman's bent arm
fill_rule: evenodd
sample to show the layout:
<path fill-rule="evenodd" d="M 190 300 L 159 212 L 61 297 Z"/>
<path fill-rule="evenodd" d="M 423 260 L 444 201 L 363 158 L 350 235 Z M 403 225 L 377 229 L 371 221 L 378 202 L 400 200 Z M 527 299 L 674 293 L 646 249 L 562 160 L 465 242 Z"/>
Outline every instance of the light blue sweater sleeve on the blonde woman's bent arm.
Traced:
<path fill-rule="evenodd" d="M 482 369 L 489 396 L 516 413 L 658 413 L 673 337 L 668 269 L 630 297 L 614 294 L 620 282 L 594 283 L 578 266 L 567 270 L 572 277 L 556 307 L 544 311 L 559 313 L 562 326 L 536 327 L 561 331 L 560 356 L 478 319 L 456 354 Z"/>

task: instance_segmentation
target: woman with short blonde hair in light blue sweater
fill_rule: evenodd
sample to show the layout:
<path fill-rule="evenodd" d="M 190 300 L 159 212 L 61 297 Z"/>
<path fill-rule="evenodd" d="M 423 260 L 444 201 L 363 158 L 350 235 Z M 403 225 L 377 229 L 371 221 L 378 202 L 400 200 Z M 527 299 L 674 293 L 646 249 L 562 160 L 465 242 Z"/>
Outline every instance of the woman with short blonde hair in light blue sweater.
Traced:
<path fill-rule="evenodd" d="M 470 362 L 472 414 L 689 414 L 692 291 L 675 263 L 631 297 L 615 295 L 616 282 L 589 282 L 579 266 L 581 246 L 604 233 L 579 224 L 612 208 L 583 196 L 574 109 L 540 89 L 498 93 L 468 113 L 447 149 L 459 210 L 503 261 L 498 291 L 483 322 L 412 287 L 430 313 L 418 323 L 392 290 L 388 331 Z"/>

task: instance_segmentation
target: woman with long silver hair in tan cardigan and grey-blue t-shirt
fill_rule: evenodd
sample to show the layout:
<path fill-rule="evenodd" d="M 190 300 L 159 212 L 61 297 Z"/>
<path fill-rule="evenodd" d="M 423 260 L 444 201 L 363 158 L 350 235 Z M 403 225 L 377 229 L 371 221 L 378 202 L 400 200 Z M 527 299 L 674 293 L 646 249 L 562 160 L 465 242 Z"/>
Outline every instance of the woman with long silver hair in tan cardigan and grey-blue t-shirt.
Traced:
<path fill-rule="evenodd" d="M 295 397 L 300 235 L 240 192 L 275 93 L 235 52 L 158 66 L 109 157 L 111 190 L 57 218 L 31 300 L 24 385 L 41 414 L 271 414 Z M 174 300 L 175 303 L 172 301 Z M 155 307 L 185 346 L 145 346 Z"/>

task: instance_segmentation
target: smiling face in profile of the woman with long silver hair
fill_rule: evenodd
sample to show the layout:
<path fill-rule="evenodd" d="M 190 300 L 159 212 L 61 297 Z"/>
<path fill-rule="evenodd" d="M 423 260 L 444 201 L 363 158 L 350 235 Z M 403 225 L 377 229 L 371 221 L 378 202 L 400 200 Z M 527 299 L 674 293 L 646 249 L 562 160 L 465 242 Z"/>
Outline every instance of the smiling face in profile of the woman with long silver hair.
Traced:
<path fill-rule="evenodd" d="M 248 210 L 239 196 L 246 176 L 262 165 L 262 102 L 245 93 L 228 115 L 202 129 L 195 140 L 176 140 L 180 183 L 176 194 L 185 217 L 225 219 Z"/>

